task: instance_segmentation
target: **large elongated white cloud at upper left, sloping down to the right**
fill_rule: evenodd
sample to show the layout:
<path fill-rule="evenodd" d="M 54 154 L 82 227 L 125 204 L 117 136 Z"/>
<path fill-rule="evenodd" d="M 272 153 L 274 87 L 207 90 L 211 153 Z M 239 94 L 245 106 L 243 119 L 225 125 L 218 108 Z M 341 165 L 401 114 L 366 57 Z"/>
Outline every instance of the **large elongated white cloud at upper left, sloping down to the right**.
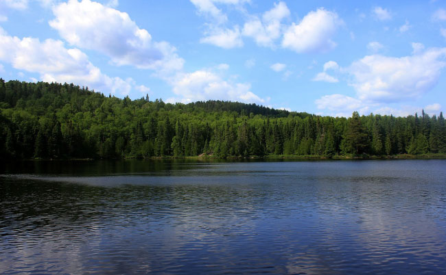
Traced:
<path fill-rule="evenodd" d="M 69 0 L 53 8 L 56 18 L 49 25 L 70 44 L 104 53 L 116 65 L 172 71 L 184 60 L 167 42 L 154 42 L 125 12 L 90 0 Z"/>

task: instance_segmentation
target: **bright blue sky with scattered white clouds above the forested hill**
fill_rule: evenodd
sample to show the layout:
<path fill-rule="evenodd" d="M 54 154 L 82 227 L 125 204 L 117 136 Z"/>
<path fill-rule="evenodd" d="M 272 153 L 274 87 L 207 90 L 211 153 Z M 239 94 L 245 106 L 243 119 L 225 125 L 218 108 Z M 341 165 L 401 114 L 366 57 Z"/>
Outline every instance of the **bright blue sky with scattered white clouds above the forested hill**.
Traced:
<path fill-rule="evenodd" d="M 0 76 L 331 116 L 446 106 L 445 1 L 0 0 Z"/>

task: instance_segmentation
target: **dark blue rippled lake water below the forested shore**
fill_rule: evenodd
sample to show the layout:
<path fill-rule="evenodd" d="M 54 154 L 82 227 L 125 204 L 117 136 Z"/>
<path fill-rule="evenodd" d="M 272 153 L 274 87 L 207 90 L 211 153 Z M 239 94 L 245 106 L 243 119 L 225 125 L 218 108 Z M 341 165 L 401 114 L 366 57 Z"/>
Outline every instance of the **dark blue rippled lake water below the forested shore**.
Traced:
<path fill-rule="evenodd" d="M 443 274 L 446 161 L 28 161 L 0 273 Z"/>

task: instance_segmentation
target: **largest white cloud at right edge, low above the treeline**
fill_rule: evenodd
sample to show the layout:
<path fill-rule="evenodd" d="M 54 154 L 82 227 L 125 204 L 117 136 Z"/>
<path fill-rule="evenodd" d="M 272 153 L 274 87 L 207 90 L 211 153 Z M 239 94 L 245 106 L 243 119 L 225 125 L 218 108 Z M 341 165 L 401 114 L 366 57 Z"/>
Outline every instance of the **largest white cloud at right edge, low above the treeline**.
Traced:
<path fill-rule="evenodd" d="M 409 56 L 367 55 L 349 67 L 339 69 L 350 75 L 349 85 L 355 89 L 356 96 L 322 96 L 315 101 L 318 109 L 325 109 L 331 114 L 348 114 L 357 110 L 362 114 L 374 112 L 396 116 L 420 112 L 419 107 L 389 106 L 419 99 L 436 86 L 441 70 L 446 66 L 446 48 L 424 50 L 421 43 L 412 43 L 412 47 L 414 51 Z M 425 106 L 429 112 L 440 109 L 438 103 Z"/>

